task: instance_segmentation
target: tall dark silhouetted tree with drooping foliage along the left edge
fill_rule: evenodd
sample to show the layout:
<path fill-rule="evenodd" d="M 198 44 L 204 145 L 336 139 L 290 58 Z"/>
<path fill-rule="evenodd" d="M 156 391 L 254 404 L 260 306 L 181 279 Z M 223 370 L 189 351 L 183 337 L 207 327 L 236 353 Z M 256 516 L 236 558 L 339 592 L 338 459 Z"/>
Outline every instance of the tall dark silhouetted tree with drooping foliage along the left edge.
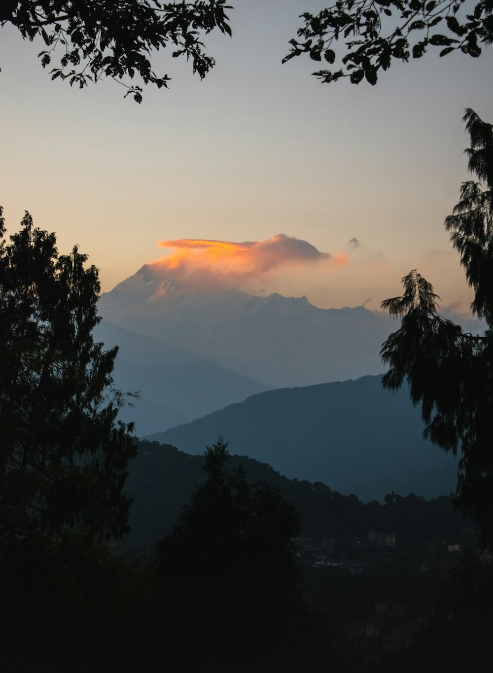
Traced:
<path fill-rule="evenodd" d="M 79 527 L 120 536 L 136 449 L 132 426 L 116 421 L 124 401 L 112 388 L 118 349 L 104 351 L 91 334 L 100 321 L 98 270 L 84 268 L 77 246 L 59 256 L 55 235 L 27 212 L 10 244 L 0 218 L 0 240 L 1 532 L 18 528 L 21 513 L 49 534 Z"/>

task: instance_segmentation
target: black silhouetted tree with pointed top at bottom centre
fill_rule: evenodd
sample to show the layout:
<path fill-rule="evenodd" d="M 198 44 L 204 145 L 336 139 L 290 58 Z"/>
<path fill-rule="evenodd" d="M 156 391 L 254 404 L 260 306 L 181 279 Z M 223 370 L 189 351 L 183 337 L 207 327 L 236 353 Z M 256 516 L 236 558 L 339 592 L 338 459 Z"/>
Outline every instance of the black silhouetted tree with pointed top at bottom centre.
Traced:
<path fill-rule="evenodd" d="M 222 437 L 205 458 L 206 481 L 156 546 L 159 616 L 167 614 L 168 629 L 178 625 L 176 637 L 193 642 L 201 661 L 228 661 L 239 647 L 245 658 L 264 656 L 280 642 L 284 657 L 296 642 L 288 634 L 303 637 L 307 617 L 290 539 L 299 516 L 274 487 L 229 470 Z"/>

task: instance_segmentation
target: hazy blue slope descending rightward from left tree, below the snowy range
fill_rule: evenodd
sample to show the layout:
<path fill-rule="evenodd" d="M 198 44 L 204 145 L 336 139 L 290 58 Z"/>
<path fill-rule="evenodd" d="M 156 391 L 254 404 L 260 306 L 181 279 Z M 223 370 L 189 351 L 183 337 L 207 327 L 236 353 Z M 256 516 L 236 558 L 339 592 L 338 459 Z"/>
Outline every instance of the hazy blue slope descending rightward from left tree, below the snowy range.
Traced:
<path fill-rule="evenodd" d="M 269 388 L 196 353 L 110 322 L 101 322 L 93 334 L 108 348 L 118 345 L 113 372 L 116 388 L 140 391 L 140 399 L 132 400 L 135 406 L 124 406 L 118 415 L 126 423 L 135 421 L 137 435 L 187 423 Z"/>

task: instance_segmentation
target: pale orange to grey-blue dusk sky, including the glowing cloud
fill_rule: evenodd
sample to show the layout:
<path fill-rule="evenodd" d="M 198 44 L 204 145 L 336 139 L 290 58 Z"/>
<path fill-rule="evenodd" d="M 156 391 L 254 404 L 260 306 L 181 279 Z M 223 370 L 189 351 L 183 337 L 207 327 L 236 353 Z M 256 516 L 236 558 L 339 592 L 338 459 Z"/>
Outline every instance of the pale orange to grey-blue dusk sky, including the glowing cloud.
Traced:
<path fill-rule="evenodd" d="M 393 62 L 375 87 L 322 85 L 310 59 L 281 59 L 299 13 L 326 3 L 231 4 L 232 38 L 204 38 L 213 71 L 200 81 L 167 48 L 153 65 L 169 89 L 145 87 L 140 106 L 111 80 L 50 81 L 44 44 L 0 30 L 7 229 L 30 211 L 61 253 L 89 254 L 103 291 L 161 260 L 183 282 L 208 268 L 217 287 L 377 309 L 416 268 L 465 312 L 443 220 L 469 179 L 464 108 L 493 121 L 492 49 Z"/>

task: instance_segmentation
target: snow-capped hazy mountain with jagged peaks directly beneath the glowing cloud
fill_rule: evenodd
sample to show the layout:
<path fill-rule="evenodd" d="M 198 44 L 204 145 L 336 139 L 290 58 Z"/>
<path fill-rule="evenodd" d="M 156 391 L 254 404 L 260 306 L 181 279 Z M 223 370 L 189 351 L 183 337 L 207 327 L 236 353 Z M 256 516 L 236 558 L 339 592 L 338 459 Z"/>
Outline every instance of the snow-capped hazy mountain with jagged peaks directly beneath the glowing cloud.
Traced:
<path fill-rule="evenodd" d="M 321 309 L 306 297 L 181 290 L 152 264 L 102 295 L 99 310 L 105 320 L 272 388 L 380 374 L 381 344 L 396 326 L 362 306 Z"/>

